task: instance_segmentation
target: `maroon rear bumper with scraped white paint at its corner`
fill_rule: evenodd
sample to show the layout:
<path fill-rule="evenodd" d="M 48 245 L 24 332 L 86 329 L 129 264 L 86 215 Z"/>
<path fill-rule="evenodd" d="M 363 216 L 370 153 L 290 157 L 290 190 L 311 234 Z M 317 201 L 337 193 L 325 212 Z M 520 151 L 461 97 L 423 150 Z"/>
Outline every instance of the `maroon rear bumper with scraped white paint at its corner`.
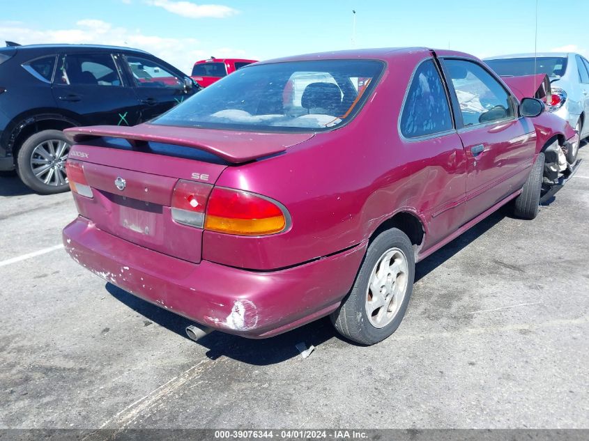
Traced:
<path fill-rule="evenodd" d="M 222 332 L 254 339 L 286 332 L 337 309 L 366 244 L 273 272 L 190 263 L 100 231 L 78 217 L 63 244 L 80 265 L 148 302 Z"/>

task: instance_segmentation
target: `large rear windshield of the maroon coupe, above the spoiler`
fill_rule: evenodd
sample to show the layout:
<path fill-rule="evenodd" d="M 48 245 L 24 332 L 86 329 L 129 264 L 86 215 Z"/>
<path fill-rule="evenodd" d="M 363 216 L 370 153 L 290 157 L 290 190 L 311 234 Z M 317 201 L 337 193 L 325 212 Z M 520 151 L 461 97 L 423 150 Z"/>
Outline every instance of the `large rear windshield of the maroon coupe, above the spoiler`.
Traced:
<path fill-rule="evenodd" d="M 250 65 L 152 123 L 262 131 L 328 130 L 349 121 L 376 85 L 374 60 Z"/>

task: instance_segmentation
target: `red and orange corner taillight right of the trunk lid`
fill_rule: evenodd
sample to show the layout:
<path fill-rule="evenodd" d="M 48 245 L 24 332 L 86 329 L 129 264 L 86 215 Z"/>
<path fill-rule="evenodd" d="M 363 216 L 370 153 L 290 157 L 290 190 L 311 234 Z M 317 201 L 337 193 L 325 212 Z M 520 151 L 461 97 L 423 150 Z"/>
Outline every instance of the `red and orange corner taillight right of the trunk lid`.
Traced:
<path fill-rule="evenodd" d="M 265 196 L 215 187 L 208 200 L 204 228 L 237 235 L 268 235 L 284 231 L 286 209 Z"/>

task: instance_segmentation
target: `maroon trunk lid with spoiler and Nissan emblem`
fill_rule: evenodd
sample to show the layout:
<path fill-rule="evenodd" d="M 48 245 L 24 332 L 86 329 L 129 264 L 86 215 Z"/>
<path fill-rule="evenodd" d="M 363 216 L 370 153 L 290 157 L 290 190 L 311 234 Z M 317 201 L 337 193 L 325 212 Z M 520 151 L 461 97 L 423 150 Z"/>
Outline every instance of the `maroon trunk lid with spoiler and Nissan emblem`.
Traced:
<path fill-rule="evenodd" d="M 178 180 L 214 185 L 222 171 L 284 151 L 313 134 L 258 134 L 185 127 L 75 127 L 68 160 L 84 164 L 93 198 L 75 194 L 80 215 L 98 229 L 193 263 L 203 230 L 175 222 Z M 124 182 L 123 182 L 124 181 Z"/>

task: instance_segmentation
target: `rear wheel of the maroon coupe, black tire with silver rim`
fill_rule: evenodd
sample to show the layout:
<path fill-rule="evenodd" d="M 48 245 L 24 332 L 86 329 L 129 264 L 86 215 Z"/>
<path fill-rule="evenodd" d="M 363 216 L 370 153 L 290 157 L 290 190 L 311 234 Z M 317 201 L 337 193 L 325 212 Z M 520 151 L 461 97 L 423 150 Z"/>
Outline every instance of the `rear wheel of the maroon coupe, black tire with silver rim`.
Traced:
<path fill-rule="evenodd" d="M 383 231 L 369 245 L 342 306 L 330 316 L 337 332 L 364 345 L 386 339 L 403 320 L 413 292 L 414 277 L 415 258 L 409 238 L 399 229 Z M 378 285 L 381 285 L 382 294 L 374 295 L 372 287 Z"/>

